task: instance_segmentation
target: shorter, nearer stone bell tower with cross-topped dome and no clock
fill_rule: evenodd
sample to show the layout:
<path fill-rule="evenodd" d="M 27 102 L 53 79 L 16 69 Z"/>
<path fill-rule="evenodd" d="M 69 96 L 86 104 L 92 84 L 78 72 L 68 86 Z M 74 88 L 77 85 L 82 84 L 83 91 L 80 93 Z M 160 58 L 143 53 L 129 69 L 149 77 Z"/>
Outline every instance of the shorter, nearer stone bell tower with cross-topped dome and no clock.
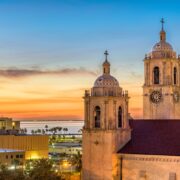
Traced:
<path fill-rule="evenodd" d="M 84 94 L 83 180 L 111 180 L 117 176 L 117 151 L 131 138 L 128 93 L 110 75 L 105 51 L 99 76 Z"/>

